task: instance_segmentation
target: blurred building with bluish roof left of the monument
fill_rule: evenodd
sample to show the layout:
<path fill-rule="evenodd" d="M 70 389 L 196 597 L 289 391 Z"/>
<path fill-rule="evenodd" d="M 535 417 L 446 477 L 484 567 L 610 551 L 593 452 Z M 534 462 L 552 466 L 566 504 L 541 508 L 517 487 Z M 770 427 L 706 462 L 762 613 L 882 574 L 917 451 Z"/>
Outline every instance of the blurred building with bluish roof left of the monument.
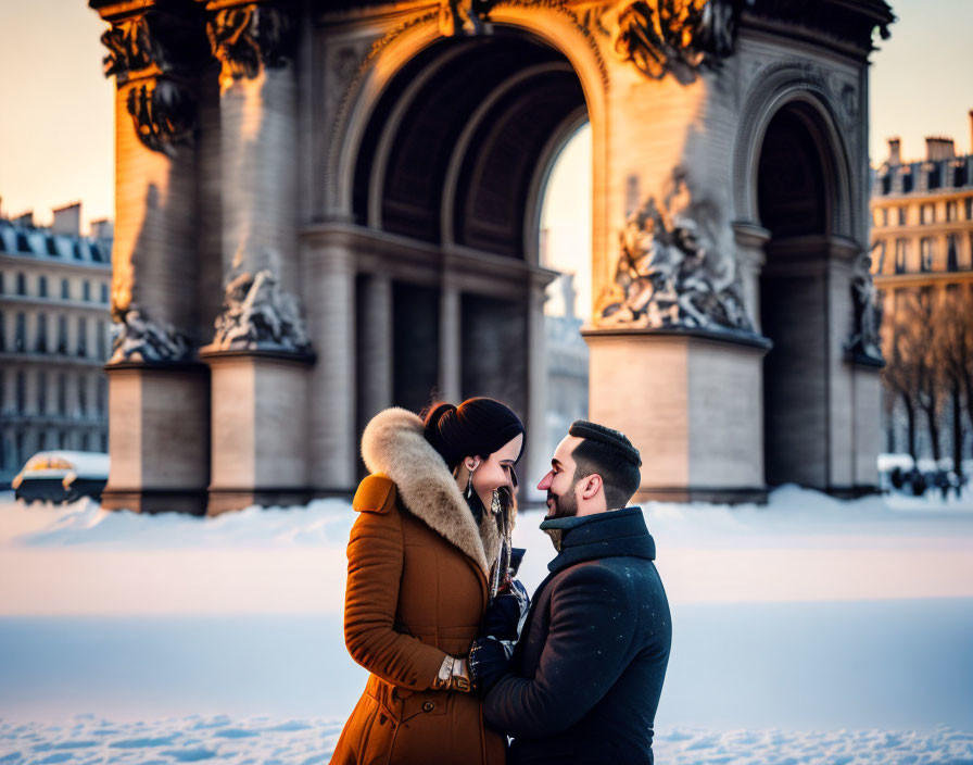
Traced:
<path fill-rule="evenodd" d="M 112 226 L 79 220 L 0 218 L 0 486 L 40 450 L 108 452 Z"/>

